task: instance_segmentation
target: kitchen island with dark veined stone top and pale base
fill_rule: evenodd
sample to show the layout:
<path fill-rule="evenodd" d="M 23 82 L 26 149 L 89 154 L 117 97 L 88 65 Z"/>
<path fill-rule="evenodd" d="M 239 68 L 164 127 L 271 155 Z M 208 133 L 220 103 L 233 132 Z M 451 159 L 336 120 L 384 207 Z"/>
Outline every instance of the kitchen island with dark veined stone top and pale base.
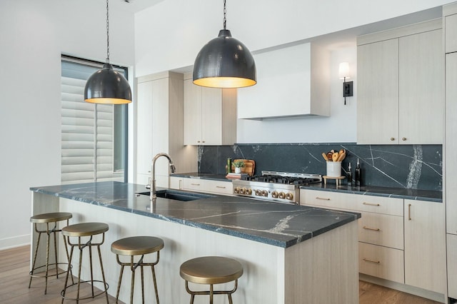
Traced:
<path fill-rule="evenodd" d="M 156 267 L 162 303 L 189 301 L 179 265 L 204 255 L 236 258 L 243 265 L 234 303 L 358 303 L 359 213 L 231 196 L 151 203 L 137 194 L 144 190 L 119 182 L 33 187 L 32 213 L 66 211 L 74 215 L 71 223 L 109 224 L 102 256 L 111 295 L 119 275 L 111 243 L 153 235 L 165 243 Z M 148 275 L 145 280 L 151 286 Z M 154 289 L 146 289 L 154 298 Z M 125 284 L 120 298 L 128 297 Z M 196 303 L 207 300 L 196 297 Z"/>

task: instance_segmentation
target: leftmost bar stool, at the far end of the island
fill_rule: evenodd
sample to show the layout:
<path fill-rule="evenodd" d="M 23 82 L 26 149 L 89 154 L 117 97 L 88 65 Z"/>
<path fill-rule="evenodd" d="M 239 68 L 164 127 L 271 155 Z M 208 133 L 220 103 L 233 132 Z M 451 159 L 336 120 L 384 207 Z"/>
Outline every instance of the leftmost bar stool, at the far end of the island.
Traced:
<path fill-rule="evenodd" d="M 30 218 L 31 223 L 34 223 L 34 230 L 36 233 L 38 233 L 38 240 L 36 242 L 36 248 L 35 248 L 35 256 L 34 256 L 34 263 L 31 266 L 30 270 L 30 281 L 29 281 L 29 288 L 31 286 L 31 279 L 32 278 L 44 278 L 45 279 L 45 285 L 44 285 L 44 294 L 46 295 L 48 291 L 48 278 L 51 276 L 56 276 L 56 278 L 59 278 L 59 275 L 62 273 L 66 273 L 67 270 L 71 272 L 71 267 L 68 267 L 67 270 L 63 270 L 59 272 L 59 265 L 69 265 L 69 263 L 59 263 L 57 259 L 57 238 L 56 238 L 56 233 L 61 232 L 59 228 L 57 228 L 57 223 L 60 221 L 66 221 L 66 225 L 69 225 L 69 219 L 73 217 L 73 215 L 69 212 L 54 212 L 54 213 L 42 213 L 42 214 L 37 214 L 36 216 L 32 216 Z M 39 230 L 38 224 L 43 223 L 46 224 L 46 230 Z M 54 224 L 54 227 L 50 228 L 50 224 Z M 38 255 L 38 248 L 40 245 L 40 239 L 41 239 L 41 233 L 46 233 L 47 239 L 46 239 L 46 263 L 44 265 L 36 267 L 36 256 Z M 54 234 L 54 258 L 55 258 L 55 263 L 49 264 L 49 247 L 50 247 L 50 236 L 51 233 Z M 65 238 L 64 238 L 65 241 Z M 66 260 L 67 262 L 69 261 L 69 251 L 67 250 L 66 246 Z M 56 267 L 56 273 L 55 274 L 49 274 L 49 265 L 54 265 Z M 36 275 L 35 272 L 38 269 L 45 268 L 45 274 L 44 275 Z M 73 277 L 72 277 L 73 278 Z"/>

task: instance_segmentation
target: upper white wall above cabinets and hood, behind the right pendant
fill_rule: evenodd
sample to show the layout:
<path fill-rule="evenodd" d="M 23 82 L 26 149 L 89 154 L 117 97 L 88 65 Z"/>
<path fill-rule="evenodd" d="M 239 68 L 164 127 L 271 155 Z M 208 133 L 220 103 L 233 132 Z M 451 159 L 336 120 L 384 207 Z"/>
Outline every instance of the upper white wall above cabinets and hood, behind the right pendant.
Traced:
<path fill-rule="evenodd" d="M 227 1 L 227 29 L 255 52 L 450 3 L 407 1 Z M 222 29 L 222 0 L 166 0 L 135 18 L 136 76 L 194 64 Z"/>

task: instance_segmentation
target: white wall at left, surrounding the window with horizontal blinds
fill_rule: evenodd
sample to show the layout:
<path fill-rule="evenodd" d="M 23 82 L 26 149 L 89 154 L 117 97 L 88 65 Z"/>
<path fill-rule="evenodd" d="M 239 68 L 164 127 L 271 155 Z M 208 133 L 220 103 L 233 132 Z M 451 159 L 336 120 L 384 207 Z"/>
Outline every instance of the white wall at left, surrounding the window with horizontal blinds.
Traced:
<path fill-rule="evenodd" d="M 134 66 L 134 15 L 110 2 L 110 58 Z M 60 183 L 61 53 L 104 61 L 104 0 L 0 1 L 0 249 L 29 243 L 31 186 Z"/>

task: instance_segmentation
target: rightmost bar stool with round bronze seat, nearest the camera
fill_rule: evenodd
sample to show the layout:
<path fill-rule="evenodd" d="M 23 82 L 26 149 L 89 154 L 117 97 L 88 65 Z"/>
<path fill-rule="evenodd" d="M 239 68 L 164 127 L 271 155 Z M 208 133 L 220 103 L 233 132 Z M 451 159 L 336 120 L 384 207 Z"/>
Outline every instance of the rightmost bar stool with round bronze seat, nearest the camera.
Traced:
<path fill-rule="evenodd" d="M 179 268 L 181 278 L 186 280 L 186 291 L 191 294 L 191 304 L 195 295 L 209 295 L 209 303 L 213 303 L 213 295 L 228 295 L 232 304 L 231 294 L 238 287 L 238 278 L 243 275 L 243 266 L 237 260 L 221 256 L 204 256 L 187 260 Z M 232 280 L 235 285 L 232 290 L 214 290 L 214 284 L 228 283 Z M 193 291 L 189 289 L 189 282 L 209 284 L 209 291 Z"/>

